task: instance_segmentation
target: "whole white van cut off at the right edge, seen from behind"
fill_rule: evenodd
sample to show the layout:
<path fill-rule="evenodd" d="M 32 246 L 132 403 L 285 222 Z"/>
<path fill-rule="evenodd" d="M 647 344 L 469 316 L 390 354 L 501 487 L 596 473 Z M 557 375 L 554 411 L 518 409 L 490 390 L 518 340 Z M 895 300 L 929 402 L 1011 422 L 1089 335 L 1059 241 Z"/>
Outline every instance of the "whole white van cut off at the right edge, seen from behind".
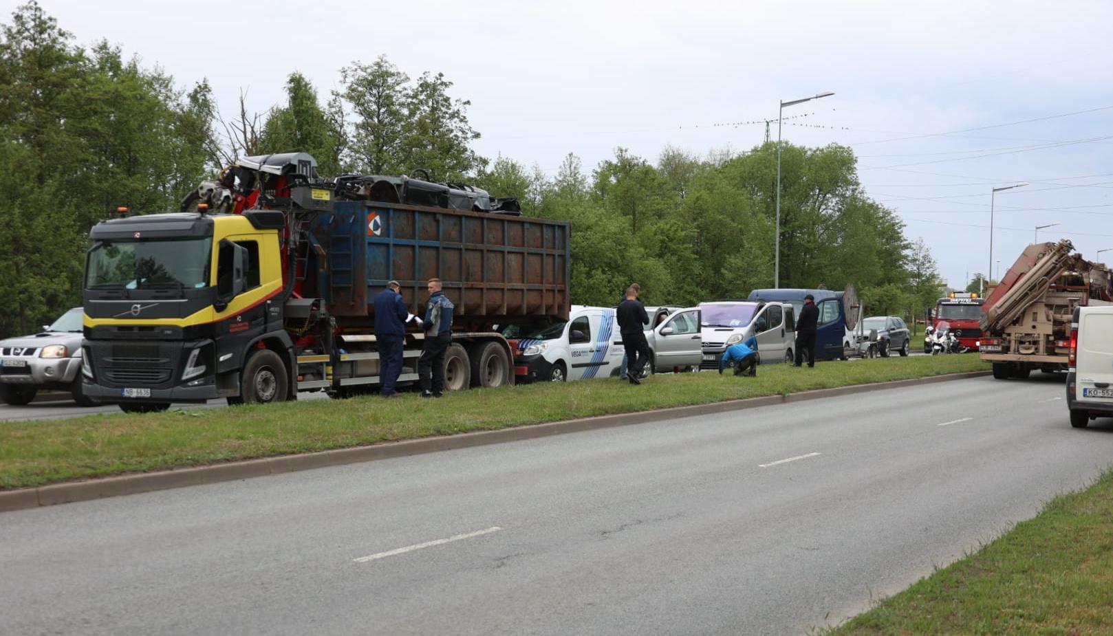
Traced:
<path fill-rule="evenodd" d="M 1113 306 L 1074 310 L 1066 407 L 1074 428 L 1085 428 L 1095 417 L 1113 417 Z"/>

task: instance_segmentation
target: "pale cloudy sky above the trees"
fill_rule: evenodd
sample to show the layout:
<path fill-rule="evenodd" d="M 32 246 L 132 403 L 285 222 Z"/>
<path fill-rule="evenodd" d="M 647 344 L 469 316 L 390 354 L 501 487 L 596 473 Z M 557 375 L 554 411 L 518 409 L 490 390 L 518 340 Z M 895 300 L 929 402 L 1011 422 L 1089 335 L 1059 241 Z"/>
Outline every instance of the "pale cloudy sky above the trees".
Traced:
<path fill-rule="evenodd" d="M 619 147 L 746 151 L 765 120 L 776 139 L 781 100 L 834 91 L 786 108 L 785 140 L 850 146 L 866 193 L 948 285 L 1003 275 L 1041 225 L 1087 259 L 1113 248 L 1109 0 L 40 4 L 79 44 L 107 39 L 184 89 L 207 78 L 226 116 L 242 91 L 252 110 L 282 105 L 294 70 L 323 98 L 380 54 L 443 72 L 480 155 L 549 176 L 569 152 L 590 175 Z M 1017 183 L 993 197 L 991 257 L 991 191 Z"/>

